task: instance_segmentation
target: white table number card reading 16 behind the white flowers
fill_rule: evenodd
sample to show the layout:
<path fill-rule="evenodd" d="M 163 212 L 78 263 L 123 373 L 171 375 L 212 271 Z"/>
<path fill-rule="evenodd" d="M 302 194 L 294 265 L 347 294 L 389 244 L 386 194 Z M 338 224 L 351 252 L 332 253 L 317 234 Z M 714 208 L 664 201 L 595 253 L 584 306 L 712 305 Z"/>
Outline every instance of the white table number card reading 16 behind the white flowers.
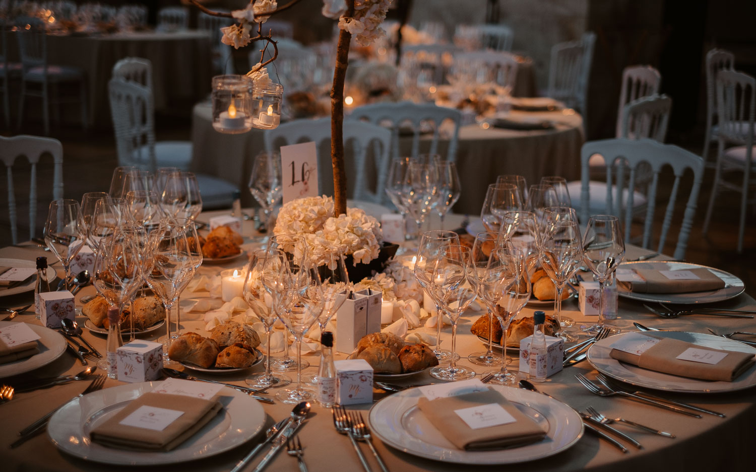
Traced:
<path fill-rule="evenodd" d="M 281 147 L 283 203 L 318 196 L 318 147 L 313 141 Z"/>

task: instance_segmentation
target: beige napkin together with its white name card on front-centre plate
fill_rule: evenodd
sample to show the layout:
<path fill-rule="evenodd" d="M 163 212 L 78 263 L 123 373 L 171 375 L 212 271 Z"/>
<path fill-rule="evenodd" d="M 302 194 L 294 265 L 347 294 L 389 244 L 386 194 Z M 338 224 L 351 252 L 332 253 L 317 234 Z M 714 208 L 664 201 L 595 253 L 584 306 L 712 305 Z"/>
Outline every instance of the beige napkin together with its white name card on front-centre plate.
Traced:
<path fill-rule="evenodd" d="M 420 397 L 417 406 L 446 439 L 466 451 L 524 446 L 542 440 L 547 433 L 490 388 L 435 400 Z"/>

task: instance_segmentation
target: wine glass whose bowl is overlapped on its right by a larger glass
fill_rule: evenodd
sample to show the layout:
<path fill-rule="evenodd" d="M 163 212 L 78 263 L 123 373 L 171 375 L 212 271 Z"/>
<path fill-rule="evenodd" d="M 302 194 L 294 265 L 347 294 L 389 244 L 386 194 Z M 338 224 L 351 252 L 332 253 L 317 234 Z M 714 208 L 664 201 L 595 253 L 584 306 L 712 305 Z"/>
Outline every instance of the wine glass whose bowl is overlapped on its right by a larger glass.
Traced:
<path fill-rule="evenodd" d="M 472 243 L 472 255 L 467 279 L 475 288 L 478 298 L 488 309 L 488 347 L 485 351 L 478 351 L 467 356 L 470 362 L 478 366 L 497 366 L 501 359 L 494 355 L 494 310 L 496 308 L 495 280 L 488 271 L 491 255 L 500 248 L 507 239 L 507 233 L 485 232 L 478 233 Z"/>

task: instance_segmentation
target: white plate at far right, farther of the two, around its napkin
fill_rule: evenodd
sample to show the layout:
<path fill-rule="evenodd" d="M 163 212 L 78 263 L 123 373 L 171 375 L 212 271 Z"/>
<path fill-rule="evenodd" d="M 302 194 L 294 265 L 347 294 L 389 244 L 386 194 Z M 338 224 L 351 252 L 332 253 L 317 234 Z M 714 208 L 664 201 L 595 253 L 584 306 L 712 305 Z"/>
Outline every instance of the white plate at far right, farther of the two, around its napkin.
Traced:
<path fill-rule="evenodd" d="M 626 269 L 653 269 L 653 270 L 689 270 L 689 269 L 708 269 L 715 276 L 724 281 L 724 288 L 718 290 L 707 290 L 705 292 L 689 293 L 634 293 L 627 286 L 619 283 L 617 293 L 620 297 L 632 298 L 640 301 L 653 301 L 674 304 L 705 304 L 714 303 L 715 301 L 728 300 L 737 297 L 745 290 L 743 281 L 729 272 L 706 267 L 701 264 L 691 264 L 689 262 L 675 261 L 640 261 L 640 262 L 623 262 L 620 267 Z"/>

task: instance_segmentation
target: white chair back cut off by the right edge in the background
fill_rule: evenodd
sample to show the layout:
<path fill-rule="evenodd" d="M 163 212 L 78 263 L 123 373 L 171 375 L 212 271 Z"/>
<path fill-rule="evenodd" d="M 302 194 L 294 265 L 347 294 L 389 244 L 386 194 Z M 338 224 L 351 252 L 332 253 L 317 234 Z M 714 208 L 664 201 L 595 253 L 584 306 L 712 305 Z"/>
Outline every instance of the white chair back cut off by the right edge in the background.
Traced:
<path fill-rule="evenodd" d="M 753 147 L 754 132 L 756 132 L 754 113 L 756 113 L 756 79 L 735 70 L 724 69 L 717 72 L 719 149 L 720 152 L 723 150 L 724 143 L 745 145 L 748 157 L 745 159 L 746 168 L 751 162 L 751 147 Z"/>

